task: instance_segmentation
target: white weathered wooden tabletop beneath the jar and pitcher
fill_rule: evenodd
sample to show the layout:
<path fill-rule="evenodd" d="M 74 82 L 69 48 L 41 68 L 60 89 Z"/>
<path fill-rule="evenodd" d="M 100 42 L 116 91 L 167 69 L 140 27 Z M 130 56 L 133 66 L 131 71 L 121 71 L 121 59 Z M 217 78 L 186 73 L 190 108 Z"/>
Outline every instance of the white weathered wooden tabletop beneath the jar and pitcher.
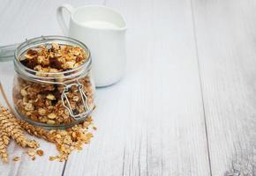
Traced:
<path fill-rule="evenodd" d="M 50 162 L 55 146 L 40 140 L 45 156 L 31 161 L 11 143 L 10 158 L 21 161 L 1 163 L 1 176 L 218 176 L 235 160 L 254 169 L 254 0 L 1 0 L 0 45 L 62 34 L 56 7 L 64 3 L 124 14 L 126 75 L 97 90 L 98 130 L 84 150 Z M 12 63 L 1 62 L 10 99 L 12 77 Z"/>

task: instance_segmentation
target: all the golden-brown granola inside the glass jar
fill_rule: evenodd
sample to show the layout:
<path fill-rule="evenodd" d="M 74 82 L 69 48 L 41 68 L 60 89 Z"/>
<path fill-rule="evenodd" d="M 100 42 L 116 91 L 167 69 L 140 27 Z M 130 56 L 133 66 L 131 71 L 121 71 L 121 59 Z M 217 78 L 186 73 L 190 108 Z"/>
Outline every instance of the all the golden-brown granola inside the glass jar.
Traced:
<path fill-rule="evenodd" d="M 27 50 L 25 55 L 20 57 L 20 62 L 26 67 L 36 70 L 36 75 L 44 77 L 43 73 L 63 72 L 77 68 L 87 60 L 87 53 L 79 47 L 58 45 L 52 43 L 49 46 L 40 46 Z M 63 76 L 58 75 L 58 83 Z M 73 83 L 76 83 L 74 81 Z M 72 84 L 72 83 L 69 83 Z M 82 90 L 86 93 L 87 104 L 94 108 L 94 85 L 89 75 L 79 78 Z M 64 107 L 71 105 L 74 115 L 82 114 L 86 108 L 78 86 L 72 86 L 67 93 L 67 98 L 62 100 L 64 84 L 42 84 L 16 77 L 13 86 L 13 102 L 19 114 L 27 118 L 45 123 L 48 125 L 69 124 L 73 120 L 69 110 Z"/>

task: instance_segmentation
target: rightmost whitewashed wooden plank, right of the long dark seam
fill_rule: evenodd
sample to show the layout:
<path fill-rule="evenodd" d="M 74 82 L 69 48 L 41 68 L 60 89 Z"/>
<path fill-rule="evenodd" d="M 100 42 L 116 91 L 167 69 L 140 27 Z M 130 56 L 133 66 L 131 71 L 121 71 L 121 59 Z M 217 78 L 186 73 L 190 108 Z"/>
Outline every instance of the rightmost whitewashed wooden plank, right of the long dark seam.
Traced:
<path fill-rule="evenodd" d="M 213 175 L 255 175 L 256 2 L 192 2 Z"/>

